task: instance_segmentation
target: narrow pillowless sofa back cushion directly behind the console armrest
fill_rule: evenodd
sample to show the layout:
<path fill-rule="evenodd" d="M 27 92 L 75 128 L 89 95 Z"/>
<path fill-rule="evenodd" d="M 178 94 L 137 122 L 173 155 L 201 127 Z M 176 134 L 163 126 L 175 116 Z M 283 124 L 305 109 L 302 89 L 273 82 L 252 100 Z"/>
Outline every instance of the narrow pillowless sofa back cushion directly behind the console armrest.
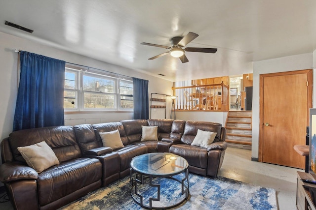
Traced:
<path fill-rule="evenodd" d="M 91 124 L 75 125 L 74 128 L 79 147 L 83 153 L 87 150 L 103 147 L 101 144 L 102 142 L 99 142 L 96 139 L 94 129 Z"/>

